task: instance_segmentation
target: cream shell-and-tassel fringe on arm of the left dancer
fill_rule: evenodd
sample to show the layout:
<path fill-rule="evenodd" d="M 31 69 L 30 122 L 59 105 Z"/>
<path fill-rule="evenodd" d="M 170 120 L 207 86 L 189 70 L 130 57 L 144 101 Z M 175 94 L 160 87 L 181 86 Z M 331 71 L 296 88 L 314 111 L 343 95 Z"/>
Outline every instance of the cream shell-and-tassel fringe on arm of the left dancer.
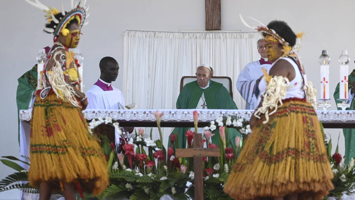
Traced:
<path fill-rule="evenodd" d="M 72 105 L 81 108 L 81 105 L 78 103 L 75 98 L 76 92 L 74 89 L 68 85 L 64 80 L 64 73 L 61 68 L 61 65 L 58 60 L 56 60 L 56 56 L 62 53 L 58 51 L 54 54 L 53 59 L 55 61 L 55 65 L 51 68 L 50 71 L 47 71 L 48 80 L 52 86 L 54 93 L 58 98 L 64 99 L 66 102 L 71 103 Z M 70 63 L 67 62 L 69 65 Z M 51 72 L 51 73 L 50 73 Z"/>

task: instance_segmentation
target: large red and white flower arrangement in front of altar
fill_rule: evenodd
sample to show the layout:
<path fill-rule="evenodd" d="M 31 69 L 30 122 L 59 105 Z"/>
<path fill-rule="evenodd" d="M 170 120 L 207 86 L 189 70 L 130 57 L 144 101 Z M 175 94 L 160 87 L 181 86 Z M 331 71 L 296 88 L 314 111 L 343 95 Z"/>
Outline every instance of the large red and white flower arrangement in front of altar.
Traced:
<path fill-rule="evenodd" d="M 193 159 L 175 158 L 175 145 L 179 142 L 177 133 L 170 136 L 171 145 L 168 150 L 164 148 L 160 130 L 160 120 L 163 114 L 159 111 L 154 113 L 160 136 L 157 141 L 151 139 L 152 130 L 148 135 L 144 134 L 143 129 L 140 129 L 138 133 L 135 132 L 133 136 L 122 133 L 121 143 L 117 146 L 113 143 L 109 144 L 109 141 L 105 139 L 103 149 L 104 153 L 109 155 L 107 167 L 111 184 L 99 196 L 100 199 L 160 199 L 163 195 L 170 195 L 175 199 L 194 198 Z M 197 112 L 194 114 L 197 115 Z M 225 120 L 234 118 L 236 117 L 225 116 Z M 237 130 L 242 128 L 248 130 L 246 122 L 239 121 L 244 124 L 235 126 Z M 197 120 L 195 122 L 197 129 Z M 241 147 L 241 138 L 227 141 L 228 130 L 220 123 L 219 125 L 220 156 L 203 158 L 203 166 L 201 166 L 203 167 L 204 199 L 230 199 L 223 192 L 223 187 Z M 190 130 L 186 132 L 189 148 L 193 148 L 194 134 L 195 132 Z M 202 143 L 206 143 L 208 148 L 218 147 L 210 142 L 213 135 L 209 130 L 204 131 Z"/>

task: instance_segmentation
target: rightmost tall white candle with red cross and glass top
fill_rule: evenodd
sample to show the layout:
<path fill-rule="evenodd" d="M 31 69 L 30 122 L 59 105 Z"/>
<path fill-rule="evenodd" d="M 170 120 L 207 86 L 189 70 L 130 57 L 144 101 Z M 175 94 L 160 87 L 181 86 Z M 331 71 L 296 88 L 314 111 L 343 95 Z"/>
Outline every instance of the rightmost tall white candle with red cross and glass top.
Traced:
<path fill-rule="evenodd" d="M 339 57 L 340 71 L 339 71 L 339 98 L 348 99 L 348 75 L 349 75 L 349 61 L 348 51 L 343 50 Z"/>

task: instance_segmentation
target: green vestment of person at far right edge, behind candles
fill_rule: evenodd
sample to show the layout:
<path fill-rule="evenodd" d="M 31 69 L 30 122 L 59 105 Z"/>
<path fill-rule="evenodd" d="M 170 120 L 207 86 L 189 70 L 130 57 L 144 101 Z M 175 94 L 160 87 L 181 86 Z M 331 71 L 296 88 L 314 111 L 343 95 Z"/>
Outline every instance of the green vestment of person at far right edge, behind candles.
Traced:
<path fill-rule="evenodd" d="M 355 80 L 355 69 L 353 70 L 353 72 L 350 73 L 348 78 L 349 78 L 349 92 L 350 92 L 351 87 L 353 87 L 353 83 Z M 335 99 L 335 103 L 342 103 L 341 101 L 337 100 L 339 99 L 339 83 L 335 88 L 334 99 Z M 338 110 L 341 110 L 341 108 L 338 108 Z M 355 110 L 354 98 L 351 99 L 350 108 L 346 108 L 346 110 Z M 355 157 L 355 129 L 343 128 L 343 134 L 345 138 L 345 163 L 349 164 L 350 158 Z"/>

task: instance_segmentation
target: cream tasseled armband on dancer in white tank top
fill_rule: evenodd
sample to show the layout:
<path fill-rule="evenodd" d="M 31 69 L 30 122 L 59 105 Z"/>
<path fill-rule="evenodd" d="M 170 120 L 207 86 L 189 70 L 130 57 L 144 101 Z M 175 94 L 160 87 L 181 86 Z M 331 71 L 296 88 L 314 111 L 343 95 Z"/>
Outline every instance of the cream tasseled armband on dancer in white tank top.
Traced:
<path fill-rule="evenodd" d="M 263 121 L 263 124 L 266 124 L 269 121 L 269 115 L 272 115 L 277 111 L 278 104 L 282 105 L 282 99 L 286 97 L 287 87 L 290 85 L 290 81 L 283 76 L 274 76 L 270 78 L 265 72 L 264 75 L 269 82 L 266 91 L 262 94 L 262 106 L 255 110 L 254 116 L 260 119 L 261 115 L 265 115 L 265 121 Z M 269 113 L 269 109 L 273 110 Z"/>

